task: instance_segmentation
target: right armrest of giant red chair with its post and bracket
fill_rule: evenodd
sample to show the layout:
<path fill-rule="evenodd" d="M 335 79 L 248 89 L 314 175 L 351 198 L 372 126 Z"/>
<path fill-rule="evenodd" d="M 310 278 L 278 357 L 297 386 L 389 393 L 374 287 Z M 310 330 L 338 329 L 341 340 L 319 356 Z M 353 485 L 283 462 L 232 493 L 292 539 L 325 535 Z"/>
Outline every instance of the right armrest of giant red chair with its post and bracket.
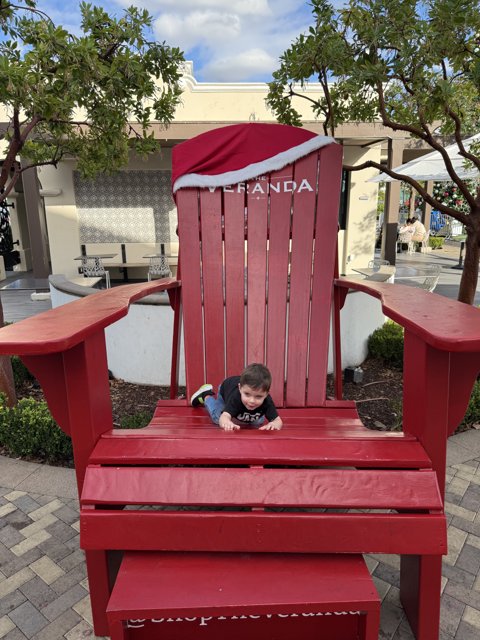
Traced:
<path fill-rule="evenodd" d="M 480 370 L 480 311 L 423 289 L 339 278 L 337 291 L 378 298 L 384 313 L 405 328 L 403 431 L 430 456 L 441 493 L 446 439 L 458 427 Z"/>

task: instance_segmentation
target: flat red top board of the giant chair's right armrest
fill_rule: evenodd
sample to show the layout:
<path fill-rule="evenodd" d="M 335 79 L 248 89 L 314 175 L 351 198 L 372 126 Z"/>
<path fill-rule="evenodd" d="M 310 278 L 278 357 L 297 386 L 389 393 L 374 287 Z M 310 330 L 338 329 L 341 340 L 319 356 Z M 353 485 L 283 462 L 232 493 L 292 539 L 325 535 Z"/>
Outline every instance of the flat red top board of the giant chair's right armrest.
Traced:
<path fill-rule="evenodd" d="M 449 352 L 480 351 L 480 311 L 415 287 L 338 278 L 337 287 L 363 291 L 382 303 L 389 318 L 431 347 Z"/>

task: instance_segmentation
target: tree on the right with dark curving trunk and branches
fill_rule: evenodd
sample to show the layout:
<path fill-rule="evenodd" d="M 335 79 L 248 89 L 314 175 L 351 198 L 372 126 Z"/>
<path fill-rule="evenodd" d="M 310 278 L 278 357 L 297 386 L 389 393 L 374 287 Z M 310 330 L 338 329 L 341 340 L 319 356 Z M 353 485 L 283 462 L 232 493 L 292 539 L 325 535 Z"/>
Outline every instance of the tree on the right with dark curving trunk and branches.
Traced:
<path fill-rule="evenodd" d="M 349 0 L 335 10 L 311 0 L 314 25 L 281 56 L 267 104 L 280 122 L 300 125 L 292 100 L 306 98 L 326 134 L 343 122 L 380 121 L 438 151 L 468 212 L 427 193 L 423 184 L 375 167 L 413 186 L 423 199 L 465 225 L 466 256 L 458 299 L 473 303 L 480 258 L 480 186 L 474 193 L 455 172 L 452 140 L 480 170 L 480 144 L 463 140 L 480 128 L 480 7 L 478 0 Z M 318 100 L 301 91 L 317 79 Z M 442 140 L 442 141 L 440 141 Z"/>

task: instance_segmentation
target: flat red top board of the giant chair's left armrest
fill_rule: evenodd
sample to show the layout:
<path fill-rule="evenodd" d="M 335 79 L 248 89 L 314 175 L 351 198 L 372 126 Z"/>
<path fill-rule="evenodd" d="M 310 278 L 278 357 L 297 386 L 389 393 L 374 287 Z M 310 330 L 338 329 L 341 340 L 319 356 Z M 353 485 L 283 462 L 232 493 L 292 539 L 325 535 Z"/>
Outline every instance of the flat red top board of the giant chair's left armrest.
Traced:
<path fill-rule="evenodd" d="M 66 351 L 126 316 L 136 300 L 180 285 L 175 278 L 123 285 L 3 327 L 0 354 L 23 356 Z"/>

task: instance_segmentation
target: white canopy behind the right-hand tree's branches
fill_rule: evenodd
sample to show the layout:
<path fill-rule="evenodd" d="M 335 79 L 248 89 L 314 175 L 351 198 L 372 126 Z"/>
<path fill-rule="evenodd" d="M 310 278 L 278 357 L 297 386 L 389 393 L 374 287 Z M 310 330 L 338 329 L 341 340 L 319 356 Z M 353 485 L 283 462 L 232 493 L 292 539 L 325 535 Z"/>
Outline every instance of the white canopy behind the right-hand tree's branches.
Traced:
<path fill-rule="evenodd" d="M 480 133 L 475 134 L 471 138 L 467 138 L 463 141 L 466 149 L 475 142 L 480 141 Z M 459 178 L 462 179 L 478 179 L 480 173 L 474 167 L 465 168 L 465 159 L 459 155 L 458 147 L 456 144 L 451 144 L 445 147 L 453 167 Z M 434 180 L 435 182 L 449 182 L 451 177 L 447 173 L 445 163 L 442 156 L 438 151 L 432 151 L 424 156 L 410 160 L 405 164 L 400 165 L 393 169 L 396 173 L 400 173 L 403 176 L 409 176 L 418 181 Z M 369 182 L 393 182 L 395 178 L 391 178 L 386 173 L 380 173 L 374 178 L 370 178 Z"/>

